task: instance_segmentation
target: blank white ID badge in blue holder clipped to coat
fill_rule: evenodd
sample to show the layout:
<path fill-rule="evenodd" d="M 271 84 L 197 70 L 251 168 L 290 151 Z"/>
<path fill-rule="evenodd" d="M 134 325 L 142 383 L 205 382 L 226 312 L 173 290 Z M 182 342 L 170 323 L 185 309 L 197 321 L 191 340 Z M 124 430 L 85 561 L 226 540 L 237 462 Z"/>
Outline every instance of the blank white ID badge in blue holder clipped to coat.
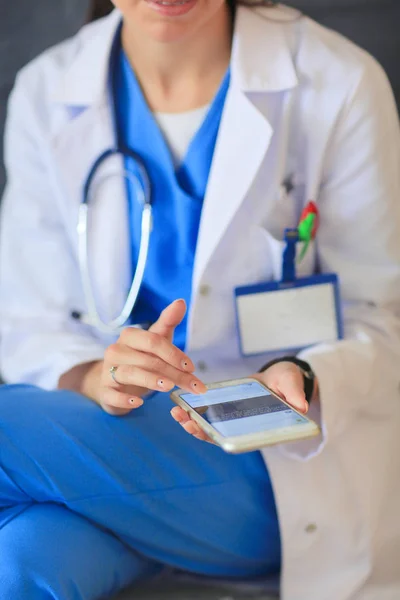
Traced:
<path fill-rule="evenodd" d="M 243 356 L 298 351 L 343 337 L 336 275 L 315 275 L 235 289 Z"/>

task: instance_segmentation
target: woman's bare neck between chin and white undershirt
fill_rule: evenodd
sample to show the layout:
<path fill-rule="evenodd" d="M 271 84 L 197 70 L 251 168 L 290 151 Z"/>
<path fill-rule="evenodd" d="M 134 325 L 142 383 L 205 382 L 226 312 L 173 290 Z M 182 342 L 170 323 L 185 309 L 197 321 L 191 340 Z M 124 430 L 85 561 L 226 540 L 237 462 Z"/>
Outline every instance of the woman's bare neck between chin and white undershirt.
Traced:
<path fill-rule="evenodd" d="M 183 39 L 160 42 L 124 22 L 122 45 L 150 108 L 192 110 L 214 97 L 230 61 L 232 15 L 227 5 Z"/>

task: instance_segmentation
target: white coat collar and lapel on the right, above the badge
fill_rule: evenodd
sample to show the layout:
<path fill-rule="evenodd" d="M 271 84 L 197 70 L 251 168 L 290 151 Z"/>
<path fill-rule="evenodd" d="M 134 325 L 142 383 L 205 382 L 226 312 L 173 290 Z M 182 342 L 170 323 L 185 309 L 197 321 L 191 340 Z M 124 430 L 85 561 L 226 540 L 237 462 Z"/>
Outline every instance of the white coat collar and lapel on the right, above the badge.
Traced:
<path fill-rule="evenodd" d="M 248 196 L 270 147 L 273 127 L 252 102 L 260 94 L 276 94 L 298 85 L 293 61 L 294 40 L 285 21 L 298 14 L 288 9 L 239 7 L 231 60 L 231 87 L 227 95 L 214 152 L 197 242 L 193 291 L 228 226 Z M 274 60 L 269 60 L 270 56 Z M 253 95 L 253 96 L 252 96 Z M 267 198 L 264 199 L 264 202 Z"/>

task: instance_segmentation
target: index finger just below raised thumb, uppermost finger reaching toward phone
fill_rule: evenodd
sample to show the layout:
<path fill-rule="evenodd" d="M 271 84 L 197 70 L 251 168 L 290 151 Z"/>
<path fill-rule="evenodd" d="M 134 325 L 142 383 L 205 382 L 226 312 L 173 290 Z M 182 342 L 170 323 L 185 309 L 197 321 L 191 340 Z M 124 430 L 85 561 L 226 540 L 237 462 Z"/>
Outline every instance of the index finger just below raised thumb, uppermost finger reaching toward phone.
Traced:
<path fill-rule="evenodd" d="M 120 342 L 133 350 L 158 356 L 180 371 L 192 373 L 195 370 L 192 361 L 184 352 L 154 331 L 127 327 L 120 335 Z"/>

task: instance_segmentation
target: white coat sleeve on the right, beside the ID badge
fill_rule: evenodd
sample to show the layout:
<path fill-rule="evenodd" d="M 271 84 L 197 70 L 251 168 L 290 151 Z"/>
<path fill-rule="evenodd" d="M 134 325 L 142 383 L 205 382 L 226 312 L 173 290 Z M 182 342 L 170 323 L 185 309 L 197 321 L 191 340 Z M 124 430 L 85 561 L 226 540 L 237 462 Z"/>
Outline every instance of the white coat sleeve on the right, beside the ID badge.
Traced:
<path fill-rule="evenodd" d="M 400 401 L 399 120 L 386 75 L 368 60 L 337 123 L 319 196 L 319 264 L 339 275 L 345 338 L 300 354 L 319 380 L 310 415 L 323 436 L 282 447 L 298 459 Z"/>

